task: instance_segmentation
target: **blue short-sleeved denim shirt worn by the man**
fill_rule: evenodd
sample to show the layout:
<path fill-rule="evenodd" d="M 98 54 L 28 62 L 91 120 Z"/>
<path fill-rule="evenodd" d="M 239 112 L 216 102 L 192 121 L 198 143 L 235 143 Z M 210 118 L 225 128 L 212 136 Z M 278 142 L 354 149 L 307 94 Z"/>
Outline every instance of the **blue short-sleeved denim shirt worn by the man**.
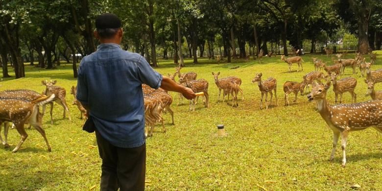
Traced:
<path fill-rule="evenodd" d="M 158 89 L 162 75 L 137 53 L 101 44 L 78 68 L 77 99 L 90 110 L 96 130 L 111 144 L 145 143 L 142 83 Z"/>

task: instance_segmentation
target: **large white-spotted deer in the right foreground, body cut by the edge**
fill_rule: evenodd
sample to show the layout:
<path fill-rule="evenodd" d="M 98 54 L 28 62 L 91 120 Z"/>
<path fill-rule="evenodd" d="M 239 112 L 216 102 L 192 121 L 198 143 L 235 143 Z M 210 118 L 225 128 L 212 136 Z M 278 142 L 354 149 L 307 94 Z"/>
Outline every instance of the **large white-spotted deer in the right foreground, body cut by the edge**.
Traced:
<path fill-rule="evenodd" d="M 342 167 L 345 167 L 345 148 L 349 132 L 363 130 L 373 126 L 382 133 L 382 101 L 372 100 L 332 106 L 326 99 L 326 93 L 329 87 L 330 82 L 326 85 L 315 83 L 311 93 L 308 95 L 308 99 L 317 102 L 318 112 L 333 130 L 333 149 L 330 155 L 330 161 L 334 159 L 335 148 L 338 138 L 341 135 Z"/>

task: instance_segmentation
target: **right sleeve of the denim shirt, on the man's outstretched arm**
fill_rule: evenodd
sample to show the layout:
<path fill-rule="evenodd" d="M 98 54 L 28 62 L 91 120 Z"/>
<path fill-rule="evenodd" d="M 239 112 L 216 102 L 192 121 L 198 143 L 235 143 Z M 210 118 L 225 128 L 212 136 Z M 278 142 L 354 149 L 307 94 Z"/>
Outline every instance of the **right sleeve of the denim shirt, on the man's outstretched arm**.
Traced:
<path fill-rule="evenodd" d="M 158 89 L 161 87 L 163 76 L 154 71 L 142 56 L 137 62 L 138 77 L 142 83 L 147 84 L 151 88 Z"/>

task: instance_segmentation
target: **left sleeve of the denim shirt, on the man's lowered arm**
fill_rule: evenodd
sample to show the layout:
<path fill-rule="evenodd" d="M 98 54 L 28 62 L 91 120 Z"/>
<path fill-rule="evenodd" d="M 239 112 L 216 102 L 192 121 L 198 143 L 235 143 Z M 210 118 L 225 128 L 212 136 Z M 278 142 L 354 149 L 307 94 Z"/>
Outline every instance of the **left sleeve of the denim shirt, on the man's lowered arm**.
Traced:
<path fill-rule="evenodd" d="M 83 104 L 88 104 L 88 86 L 86 83 L 86 73 L 85 73 L 85 66 L 83 63 L 83 60 L 81 60 L 80 66 L 78 68 L 78 77 L 77 77 L 77 94 L 76 98 Z"/>

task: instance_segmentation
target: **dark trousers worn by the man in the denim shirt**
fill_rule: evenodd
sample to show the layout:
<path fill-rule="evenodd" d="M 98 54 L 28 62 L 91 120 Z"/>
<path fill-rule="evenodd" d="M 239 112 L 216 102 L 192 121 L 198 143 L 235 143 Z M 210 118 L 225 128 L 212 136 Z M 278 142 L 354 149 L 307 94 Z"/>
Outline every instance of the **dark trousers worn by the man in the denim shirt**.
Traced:
<path fill-rule="evenodd" d="M 102 159 L 101 191 L 144 191 L 146 144 L 120 148 L 110 144 L 95 131 Z"/>

